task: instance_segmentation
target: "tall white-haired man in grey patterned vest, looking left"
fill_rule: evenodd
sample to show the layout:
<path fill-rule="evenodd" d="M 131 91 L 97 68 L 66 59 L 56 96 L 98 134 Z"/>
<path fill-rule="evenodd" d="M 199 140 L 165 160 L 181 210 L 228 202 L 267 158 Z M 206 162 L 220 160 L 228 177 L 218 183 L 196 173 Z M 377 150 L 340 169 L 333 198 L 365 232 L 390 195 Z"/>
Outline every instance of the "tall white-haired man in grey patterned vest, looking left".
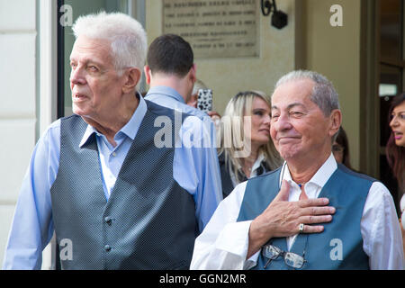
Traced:
<path fill-rule="evenodd" d="M 188 268 L 221 199 L 217 178 L 193 173 L 209 169 L 209 157 L 157 143 L 162 119 L 167 137 L 188 128 L 136 92 L 147 50 L 137 21 L 91 14 L 73 31 L 75 114 L 51 124 L 33 151 L 4 268 L 39 269 L 54 231 L 63 269 Z"/>

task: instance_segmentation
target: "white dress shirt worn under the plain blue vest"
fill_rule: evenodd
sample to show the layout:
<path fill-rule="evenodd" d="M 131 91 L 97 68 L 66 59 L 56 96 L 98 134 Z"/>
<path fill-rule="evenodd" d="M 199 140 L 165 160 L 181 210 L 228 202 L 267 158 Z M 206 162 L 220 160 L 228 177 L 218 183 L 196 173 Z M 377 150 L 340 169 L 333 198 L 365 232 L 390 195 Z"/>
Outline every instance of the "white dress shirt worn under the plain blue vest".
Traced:
<path fill-rule="evenodd" d="M 298 201 L 301 189 L 294 183 L 288 166 L 284 163 L 283 179 L 290 183 L 289 202 Z M 304 189 L 308 198 L 317 198 L 324 184 L 338 168 L 331 154 Z M 249 269 L 257 264 L 259 251 L 246 260 L 248 231 L 252 220 L 239 221 L 238 214 L 243 202 L 247 182 L 238 184 L 225 198 L 211 220 L 196 238 L 191 269 Z M 403 269 L 401 229 L 388 189 L 380 182 L 374 182 L 365 201 L 360 222 L 363 249 L 369 257 L 371 269 Z M 295 236 L 287 238 L 288 248 Z"/>

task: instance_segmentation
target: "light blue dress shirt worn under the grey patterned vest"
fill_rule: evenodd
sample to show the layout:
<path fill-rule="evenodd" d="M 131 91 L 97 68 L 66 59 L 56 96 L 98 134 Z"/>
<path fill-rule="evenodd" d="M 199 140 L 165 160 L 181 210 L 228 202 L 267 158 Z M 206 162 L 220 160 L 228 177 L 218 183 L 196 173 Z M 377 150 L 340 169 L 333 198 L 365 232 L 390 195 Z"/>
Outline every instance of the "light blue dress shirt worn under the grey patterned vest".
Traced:
<path fill-rule="evenodd" d="M 147 111 L 145 100 L 141 96 L 138 97 L 138 108 L 130 121 L 114 137 L 116 147 L 90 125 L 87 126 L 80 142 L 80 145 L 83 145 L 86 139 L 96 134 L 103 192 L 107 200 Z M 184 121 L 181 133 L 189 133 L 190 127 L 190 122 Z M 195 217 L 200 232 L 221 201 L 218 161 L 209 152 L 210 149 L 206 148 L 182 146 L 175 148 L 173 162 L 175 181 L 193 195 Z M 42 250 L 48 245 L 54 232 L 49 191 L 58 174 L 59 154 L 60 120 L 49 126 L 32 152 L 14 211 L 5 250 L 4 269 L 40 269 Z M 216 153 L 214 155 L 216 156 Z"/>

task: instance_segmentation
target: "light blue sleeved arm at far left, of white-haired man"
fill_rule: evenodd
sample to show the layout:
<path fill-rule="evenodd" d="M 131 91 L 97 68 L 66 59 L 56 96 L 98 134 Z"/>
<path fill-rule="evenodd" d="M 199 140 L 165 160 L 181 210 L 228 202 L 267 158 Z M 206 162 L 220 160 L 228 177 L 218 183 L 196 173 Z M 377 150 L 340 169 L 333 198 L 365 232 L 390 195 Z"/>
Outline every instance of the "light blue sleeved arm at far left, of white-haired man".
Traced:
<path fill-rule="evenodd" d="M 14 211 L 3 269 L 40 269 L 42 250 L 53 235 L 49 189 L 58 173 L 59 123 L 49 127 L 32 152 Z"/>

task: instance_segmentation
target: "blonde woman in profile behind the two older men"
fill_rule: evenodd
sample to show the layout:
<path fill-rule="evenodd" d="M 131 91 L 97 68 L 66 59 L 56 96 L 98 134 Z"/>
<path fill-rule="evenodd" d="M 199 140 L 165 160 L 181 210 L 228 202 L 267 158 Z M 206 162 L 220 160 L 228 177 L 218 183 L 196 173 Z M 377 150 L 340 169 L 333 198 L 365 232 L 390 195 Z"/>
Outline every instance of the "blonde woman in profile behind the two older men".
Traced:
<path fill-rule="evenodd" d="M 282 165 L 270 138 L 270 113 L 270 97 L 260 91 L 240 92 L 225 108 L 219 149 L 224 198 L 237 184 Z"/>

